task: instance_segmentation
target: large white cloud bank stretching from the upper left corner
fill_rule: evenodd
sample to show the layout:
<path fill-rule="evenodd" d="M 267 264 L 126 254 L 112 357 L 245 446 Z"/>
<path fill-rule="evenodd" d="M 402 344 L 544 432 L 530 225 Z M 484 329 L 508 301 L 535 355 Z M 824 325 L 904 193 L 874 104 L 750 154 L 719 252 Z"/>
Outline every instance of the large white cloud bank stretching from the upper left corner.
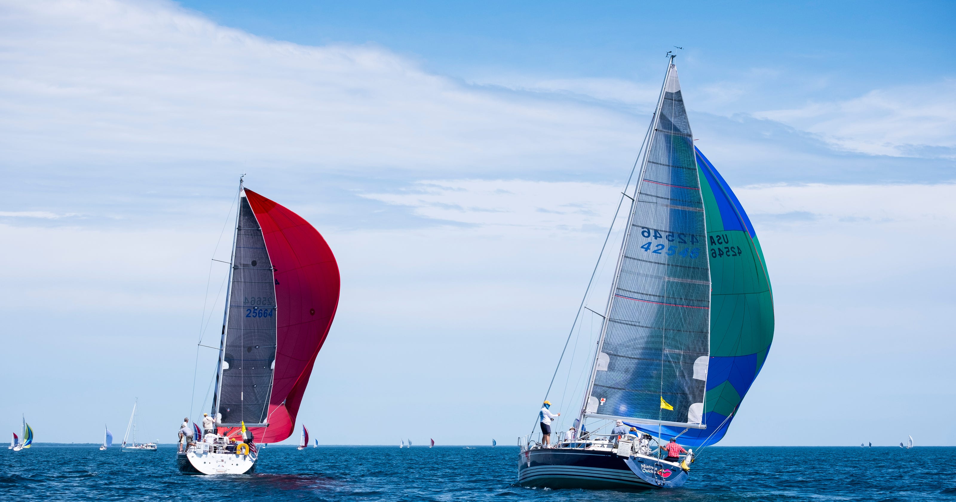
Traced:
<path fill-rule="evenodd" d="M 606 108 L 464 85 L 377 46 L 267 40 L 160 0 L 0 10 L 9 162 L 533 170 L 626 158 L 641 134 Z"/>

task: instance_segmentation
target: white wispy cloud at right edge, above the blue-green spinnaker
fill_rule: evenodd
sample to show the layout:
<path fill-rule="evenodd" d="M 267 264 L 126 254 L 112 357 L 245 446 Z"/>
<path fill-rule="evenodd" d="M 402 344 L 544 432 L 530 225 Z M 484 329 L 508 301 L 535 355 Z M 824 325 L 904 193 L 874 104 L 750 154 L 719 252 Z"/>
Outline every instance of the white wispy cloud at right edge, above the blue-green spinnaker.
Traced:
<path fill-rule="evenodd" d="M 754 116 L 809 131 L 845 150 L 956 159 L 956 79 Z"/>

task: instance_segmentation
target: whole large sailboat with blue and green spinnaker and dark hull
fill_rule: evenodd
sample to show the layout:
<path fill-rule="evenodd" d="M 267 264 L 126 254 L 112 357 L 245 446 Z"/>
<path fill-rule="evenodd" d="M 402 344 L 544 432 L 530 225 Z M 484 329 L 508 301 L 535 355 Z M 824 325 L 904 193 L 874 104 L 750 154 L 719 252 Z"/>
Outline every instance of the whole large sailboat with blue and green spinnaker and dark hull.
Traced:
<path fill-rule="evenodd" d="M 520 438 L 520 485 L 683 486 L 693 448 L 724 437 L 767 358 L 773 303 L 763 251 L 730 186 L 694 146 L 674 57 L 635 164 L 636 186 L 621 196 L 626 230 L 572 412 L 580 438 L 552 447 L 533 434 Z M 618 420 L 652 440 L 598 433 Z M 687 447 L 683 458 L 663 458 L 671 438 Z"/>

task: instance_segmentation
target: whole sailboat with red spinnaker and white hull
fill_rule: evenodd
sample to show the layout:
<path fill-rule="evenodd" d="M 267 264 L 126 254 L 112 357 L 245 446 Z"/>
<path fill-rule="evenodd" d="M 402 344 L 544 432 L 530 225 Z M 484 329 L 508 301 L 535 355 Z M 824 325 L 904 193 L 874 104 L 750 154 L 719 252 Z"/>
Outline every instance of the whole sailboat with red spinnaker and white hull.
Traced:
<path fill-rule="evenodd" d="M 231 252 L 210 413 L 217 437 L 177 453 L 184 473 L 252 472 L 255 441 L 278 443 L 293 434 L 336 316 L 338 265 L 325 239 L 242 178 Z"/>

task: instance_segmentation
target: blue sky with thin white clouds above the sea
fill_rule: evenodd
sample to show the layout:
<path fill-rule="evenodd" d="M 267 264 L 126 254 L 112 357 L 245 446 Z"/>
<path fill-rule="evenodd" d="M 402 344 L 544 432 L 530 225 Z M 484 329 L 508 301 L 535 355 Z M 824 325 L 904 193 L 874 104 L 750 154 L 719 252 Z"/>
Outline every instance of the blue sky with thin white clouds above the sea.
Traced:
<path fill-rule="evenodd" d="M 24 355 L 0 369 L 23 389 L 0 424 L 97 441 L 139 397 L 145 437 L 174 437 L 248 173 L 342 271 L 300 413 L 315 437 L 508 444 L 677 45 L 697 144 L 750 212 L 776 300 L 726 443 L 954 444 L 926 420 L 956 411 L 953 10 L 0 2 L 0 302 Z"/>

